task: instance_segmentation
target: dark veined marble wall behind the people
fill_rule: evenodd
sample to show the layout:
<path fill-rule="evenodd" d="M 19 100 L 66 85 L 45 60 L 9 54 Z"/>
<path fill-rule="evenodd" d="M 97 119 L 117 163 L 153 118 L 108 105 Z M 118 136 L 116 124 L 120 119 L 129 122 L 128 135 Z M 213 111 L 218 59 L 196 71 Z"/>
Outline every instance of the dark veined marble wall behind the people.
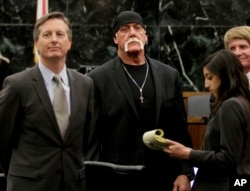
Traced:
<path fill-rule="evenodd" d="M 32 30 L 38 0 L 0 0 L 0 54 L 13 73 L 34 66 Z M 43 0 L 41 0 L 43 2 Z M 134 10 L 147 25 L 146 52 L 178 69 L 184 91 L 203 91 L 202 61 L 223 47 L 223 35 L 247 25 L 250 0 L 47 0 L 73 25 L 69 68 L 86 73 L 116 55 L 112 20 Z M 40 7 L 40 9 L 42 9 Z"/>

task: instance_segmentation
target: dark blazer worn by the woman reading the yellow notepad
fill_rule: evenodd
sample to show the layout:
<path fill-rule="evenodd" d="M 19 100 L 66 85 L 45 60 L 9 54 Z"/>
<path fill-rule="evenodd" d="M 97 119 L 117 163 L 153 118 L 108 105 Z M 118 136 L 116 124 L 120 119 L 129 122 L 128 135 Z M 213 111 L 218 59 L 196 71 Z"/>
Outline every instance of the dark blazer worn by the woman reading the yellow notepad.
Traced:
<path fill-rule="evenodd" d="M 249 133 L 249 111 L 240 99 L 224 101 L 206 127 L 203 150 L 191 151 L 190 160 L 199 168 L 192 190 L 228 191 L 237 175 L 249 176 Z"/>

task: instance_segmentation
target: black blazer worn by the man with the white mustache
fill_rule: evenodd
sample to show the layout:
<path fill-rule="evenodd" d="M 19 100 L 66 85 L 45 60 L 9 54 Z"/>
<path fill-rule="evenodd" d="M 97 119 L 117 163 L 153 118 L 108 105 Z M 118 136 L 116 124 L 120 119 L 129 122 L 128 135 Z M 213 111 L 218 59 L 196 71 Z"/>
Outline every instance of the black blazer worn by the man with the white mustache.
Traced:
<path fill-rule="evenodd" d="M 152 72 L 156 98 L 154 125 L 147 130 L 163 129 L 166 138 L 191 146 L 177 70 L 151 58 L 147 58 L 147 61 Z M 99 129 L 101 161 L 121 165 L 146 165 L 155 173 L 162 171 L 161 177 L 165 180 L 163 184 L 170 180 L 171 186 L 177 174 L 190 170 L 189 166 L 182 166 L 179 160 L 170 158 L 162 151 L 152 151 L 143 144 L 142 135 L 146 129 L 140 122 L 118 57 L 88 75 L 95 86 L 94 121 Z"/>

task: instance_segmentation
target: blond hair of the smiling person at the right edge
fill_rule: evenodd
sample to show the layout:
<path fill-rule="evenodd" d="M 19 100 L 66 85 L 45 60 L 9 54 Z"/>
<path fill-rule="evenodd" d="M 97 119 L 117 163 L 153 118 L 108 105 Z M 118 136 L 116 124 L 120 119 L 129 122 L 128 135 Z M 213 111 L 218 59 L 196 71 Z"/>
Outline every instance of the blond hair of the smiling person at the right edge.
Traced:
<path fill-rule="evenodd" d="M 230 28 L 224 35 L 225 49 L 228 49 L 228 43 L 232 39 L 245 39 L 250 44 L 250 26 L 238 26 Z"/>

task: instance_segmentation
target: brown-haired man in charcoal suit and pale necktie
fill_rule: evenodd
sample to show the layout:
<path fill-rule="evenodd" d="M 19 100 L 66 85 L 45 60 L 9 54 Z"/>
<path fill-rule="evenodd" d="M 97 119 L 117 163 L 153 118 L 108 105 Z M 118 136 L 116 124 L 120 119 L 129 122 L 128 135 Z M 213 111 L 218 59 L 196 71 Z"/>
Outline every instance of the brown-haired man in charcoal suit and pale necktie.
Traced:
<path fill-rule="evenodd" d="M 39 63 L 7 77 L 0 94 L 0 164 L 7 191 L 84 191 L 93 81 L 66 67 L 72 30 L 61 12 L 39 19 L 33 38 Z M 65 133 L 53 109 L 56 74 L 66 95 Z"/>

